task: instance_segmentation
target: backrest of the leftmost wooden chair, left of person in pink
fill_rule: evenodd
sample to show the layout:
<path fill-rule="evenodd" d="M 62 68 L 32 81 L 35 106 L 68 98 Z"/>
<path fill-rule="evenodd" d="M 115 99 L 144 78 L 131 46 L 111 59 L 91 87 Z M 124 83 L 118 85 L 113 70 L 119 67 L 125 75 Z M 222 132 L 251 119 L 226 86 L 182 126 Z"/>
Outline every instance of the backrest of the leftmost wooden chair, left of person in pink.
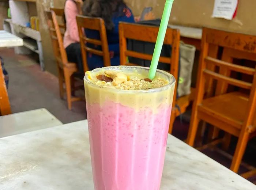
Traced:
<path fill-rule="evenodd" d="M 67 53 L 63 45 L 60 27 L 54 11 L 45 11 L 50 37 L 52 39 L 53 51 L 58 65 L 62 68 L 63 64 L 68 63 Z"/>

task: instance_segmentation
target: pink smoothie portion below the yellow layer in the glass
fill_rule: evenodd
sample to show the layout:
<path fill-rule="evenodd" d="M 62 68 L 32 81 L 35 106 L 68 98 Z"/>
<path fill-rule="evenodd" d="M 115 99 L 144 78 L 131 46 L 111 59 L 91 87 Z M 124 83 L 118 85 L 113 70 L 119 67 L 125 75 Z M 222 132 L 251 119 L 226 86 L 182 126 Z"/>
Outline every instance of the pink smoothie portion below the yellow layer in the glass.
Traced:
<path fill-rule="evenodd" d="M 87 103 L 95 190 L 159 190 L 171 105 Z"/>

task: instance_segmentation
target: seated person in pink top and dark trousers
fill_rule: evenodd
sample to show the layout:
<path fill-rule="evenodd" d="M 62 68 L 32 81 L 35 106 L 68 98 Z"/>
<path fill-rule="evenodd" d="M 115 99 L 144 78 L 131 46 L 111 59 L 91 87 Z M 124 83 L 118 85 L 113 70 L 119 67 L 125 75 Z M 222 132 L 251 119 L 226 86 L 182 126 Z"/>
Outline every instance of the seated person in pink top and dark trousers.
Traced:
<path fill-rule="evenodd" d="M 82 14 L 82 4 L 82 0 L 66 0 L 64 5 L 66 31 L 63 44 L 67 52 L 68 61 L 77 64 L 79 73 L 83 73 L 83 61 L 76 15 Z"/>

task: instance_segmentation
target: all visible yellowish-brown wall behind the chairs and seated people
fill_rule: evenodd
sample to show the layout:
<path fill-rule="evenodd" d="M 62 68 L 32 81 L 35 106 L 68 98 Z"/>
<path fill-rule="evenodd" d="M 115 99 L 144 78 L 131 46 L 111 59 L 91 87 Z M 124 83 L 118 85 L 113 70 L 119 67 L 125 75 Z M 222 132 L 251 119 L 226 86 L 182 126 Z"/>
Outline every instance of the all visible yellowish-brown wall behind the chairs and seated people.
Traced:
<path fill-rule="evenodd" d="M 161 18 L 165 0 L 125 0 L 135 16 L 141 14 L 144 7 L 153 7 L 158 18 Z M 42 45 L 46 70 L 57 74 L 56 63 L 44 18 L 44 9 L 49 9 L 50 2 L 54 7 L 63 8 L 65 0 L 37 0 L 37 12 L 40 17 Z M 236 31 L 256 35 L 256 0 L 240 0 L 237 17 L 234 20 L 211 18 L 214 0 L 174 0 L 170 23 L 194 26 L 215 27 L 222 30 Z"/>

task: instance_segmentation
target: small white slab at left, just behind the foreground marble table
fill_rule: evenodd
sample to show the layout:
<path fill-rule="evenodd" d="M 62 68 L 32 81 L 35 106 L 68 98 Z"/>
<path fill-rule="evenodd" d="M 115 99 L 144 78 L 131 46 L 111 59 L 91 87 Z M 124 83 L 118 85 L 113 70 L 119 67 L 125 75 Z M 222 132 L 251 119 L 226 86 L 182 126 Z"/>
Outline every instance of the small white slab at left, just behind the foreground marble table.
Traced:
<path fill-rule="evenodd" d="M 0 116 L 0 138 L 58 125 L 63 123 L 45 108 L 4 115 Z"/>

